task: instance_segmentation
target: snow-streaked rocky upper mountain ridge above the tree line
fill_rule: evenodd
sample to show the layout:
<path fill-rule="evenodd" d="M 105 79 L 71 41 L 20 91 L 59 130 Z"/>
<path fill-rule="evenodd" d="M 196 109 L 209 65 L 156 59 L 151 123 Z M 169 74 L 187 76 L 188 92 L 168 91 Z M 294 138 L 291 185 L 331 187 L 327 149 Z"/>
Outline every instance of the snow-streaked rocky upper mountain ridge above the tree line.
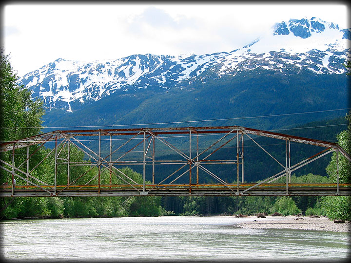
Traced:
<path fill-rule="evenodd" d="M 290 19 L 241 49 L 205 55 L 133 55 L 83 63 L 59 58 L 18 81 L 48 109 L 72 112 L 86 102 L 138 90 L 168 91 L 261 69 L 282 74 L 344 74 L 350 29 L 321 19 Z"/>

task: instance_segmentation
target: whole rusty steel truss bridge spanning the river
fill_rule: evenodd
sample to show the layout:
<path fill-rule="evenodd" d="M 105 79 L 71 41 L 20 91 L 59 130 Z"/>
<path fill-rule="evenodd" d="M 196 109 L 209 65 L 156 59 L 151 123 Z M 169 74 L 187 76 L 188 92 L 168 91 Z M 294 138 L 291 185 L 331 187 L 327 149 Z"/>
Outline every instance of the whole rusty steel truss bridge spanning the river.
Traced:
<path fill-rule="evenodd" d="M 285 160 L 279 161 L 273 153 L 259 145 L 256 142 L 259 136 L 280 140 L 278 141 L 280 144 L 285 144 L 285 152 L 282 153 L 285 155 Z M 279 172 L 268 175 L 258 183 L 245 183 L 244 138 L 254 142 L 256 149 L 262 154 L 268 154 L 270 159 L 280 167 Z M 94 145 L 97 149 L 93 148 L 93 144 L 87 143 L 92 140 L 95 141 Z M 175 142 L 171 143 L 171 141 Z M 179 149 L 179 141 L 182 141 L 181 147 L 187 148 L 186 150 Z M 232 147 L 227 148 L 231 152 L 227 156 L 228 159 L 211 159 L 217 150 L 224 149 L 226 145 L 228 147 L 230 142 Z M 292 164 L 291 143 L 318 146 L 321 151 Z M 46 156 L 40 160 L 38 157 L 35 158 L 40 148 L 50 144 L 51 147 L 47 150 Z M 83 152 L 89 161 L 72 160 L 72 148 Z M 108 148 L 108 152 L 102 150 Z M 176 154 L 179 160 L 158 158 L 157 150 L 165 149 Z M 22 159 L 15 163 L 15 156 L 19 151 L 22 152 Z M 1 197 L 351 195 L 351 185 L 339 182 L 339 156 L 345 156 L 348 161 L 351 161 L 351 156 L 338 144 L 239 126 L 52 131 L 3 143 L 0 145 L 0 152 L 3 155 L 7 154 L 7 159 L 0 159 L 0 170 L 5 178 L 5 183 L 0 189 Z M 292 172 L 331 152 L 336 152 L 336 183 L 291 182 Z M 48 158 L 54 160 L 52 161 L 54 167 L 52 167 L 52 174 L 47 174 L 45 178 L 48 179 L 44 182 L 37 176 L 36 171 Z M 4 159 L 12 159 L 12 161 Z M 162 165 L 172 167 L 173 172 L 157 175 L 156 180 L 155 167 Z M 211 168 L 215 165 L 220 167 L 232 165 L 234 167 L 231 174 L 232 181 L 226 182 L 212 172 Z M 79 166 L 89 167 L 89 169 L 83 170 L 73 178 L 72 174 Z M 142 183 L 141 179 L 137 183 L 121 169 L 121 167 L 132 166 L 142 167 Z M 59 170 L 62 171 L 62 167 L 65 168 L 63 174 L 59 172 Z M 109 178 L 106 178 L 106 174 Z M 212 182 L 200 184 L 199 176 L 204 174 L 207 178 L 211 178 Z M 152 179 L 148 181 L 146 177 Z M 183 178 L 183 182 L 187 183 L 176 183 L 179 178 Z M 283 180 L 280 179 L 280 183 L 277 183 L 279 178 Z M 17 179 L 17 184 L 14 183 L 14 179 Z M 118 179 L 118 183 L 112 183 L 112 179 L 115 182 Z M 62 184 L 63 181 L 64 184 Z"/>

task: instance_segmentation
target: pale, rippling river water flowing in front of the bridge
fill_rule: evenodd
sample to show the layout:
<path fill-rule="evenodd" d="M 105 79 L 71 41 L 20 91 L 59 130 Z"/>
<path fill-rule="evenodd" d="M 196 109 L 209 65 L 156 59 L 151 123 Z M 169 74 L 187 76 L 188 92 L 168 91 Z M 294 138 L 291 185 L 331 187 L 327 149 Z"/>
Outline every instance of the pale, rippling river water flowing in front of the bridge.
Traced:
<path fill-rule="evenodd" d="M 341 260 L 348 233 L 235 227 L 252 218 L 125 217 L 2 221 L 8 260 Z"/>

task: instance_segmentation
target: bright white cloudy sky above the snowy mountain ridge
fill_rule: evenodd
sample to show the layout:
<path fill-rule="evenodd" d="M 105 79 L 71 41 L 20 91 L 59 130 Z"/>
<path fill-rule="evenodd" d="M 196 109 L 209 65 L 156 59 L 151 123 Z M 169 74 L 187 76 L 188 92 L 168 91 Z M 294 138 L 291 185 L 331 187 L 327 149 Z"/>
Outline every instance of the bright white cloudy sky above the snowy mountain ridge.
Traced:
<path fill-rule="evenodd" d="M 1 46 L 18 76 L 58 58 L 230 52 L 289 19 L 317 17 L 350 27 L 349 6 L 338 1 L 24 3 L 1 6 Z"/>

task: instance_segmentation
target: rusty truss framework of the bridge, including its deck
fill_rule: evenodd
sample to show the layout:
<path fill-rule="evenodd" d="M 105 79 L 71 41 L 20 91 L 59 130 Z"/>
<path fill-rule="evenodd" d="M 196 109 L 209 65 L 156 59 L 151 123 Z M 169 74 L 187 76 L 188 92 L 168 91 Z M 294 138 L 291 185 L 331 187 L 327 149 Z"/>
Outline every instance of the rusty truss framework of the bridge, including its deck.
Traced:
<path fill-rule="evenodd" d="M 218 134 L 221 135 L 219 139 L 214 139 L 213 142 L 209 142 L 210 146 L 205 146 L 201 152 L 199 152 L 199 135 L 210 135 Z M 279 162 L 273 155 L 259 145 L 250 135 L 265 136 L 274 139 L 285 141 L 285 166 Z M 147 136 L 146 136 L 147 135 Z M 175 135 L 175 136 L 169 136 Z M 85 138 L 82 137 L 92 137 L 98 143 L 98 151 L 90 149 L 82 141 Z M 105 157 L 101 156 L 101 141 L 103 136 L 108 136 L 110 148 L 109 154 Z M 121 136 L 117 140 L 123 140 L 119 146 L 115 149 L 112 148 L 112 136 Z M 196 136 L 196 149 L 193 147 L 192 139 Z M 276 173 L 273 176 L 268 175 L 268 178 L 261 180 L 254 184 L 244 183 L 244 136 L 254 141 L 254 143 L 267 153 L 270 157 L 277 162 L 283 170 Z M 149 138 L 151 137 L 150 141 Z M 179 150 L 177 145 L 171 144 L 168 138 L 180 138 L 187 137 L 189 140 L 189 149 Z M 80 138 L 80 140 L 79 140 Z M 236 158 L 231 160 L 228 158 L 226 160 L 218 160 L 213 158 L 208 159 L 217 150 L 222 149 L 228 143 L 236 138 L 236 154 L 233 152 L 233 156 Z M 136 141 L 137 140 L 137 141 Z M 55 141 L 55 148 L 49 152 L 45 157 L 42 158 L 39 163 L 37 163 L 31 171 L 29 171 L 29 160 L 46 142 Z M 180 155 L 181 160 L 157 160 L 156 159 L 156 145 L 155 142 L 161 143 L 163 147 L 168 147 L 173 150 L 176 154 Z M 223 142 L 222 142 L 223 141 Z M 319 146 L 324 148 L 317 154 L 308 157 L 305 160 L 297 162 L 296 164 L 291 164 L 291 150 L 290 142 L 304 143 L 314 146 Z M 65 150 L 65 144 L 68 142 L 68 153 Z M 215 145 L 221 145 L 218 148 L 214 148 Z M 241 142 L 241 149 L 240 149 Z M 40 144 L 40 145 L 39 145 Z M 132 144 L 132 145 L 131 145 Z M 141 145 L 142 144 L 142 145 Z M 29 148 L 32 145 L 39 145 L 39 148 L 29 155 Z M 91 158 L 89 163 L 84 162 L 74 162 L 71 160 L 70 156 L 70 146 L 75 146 L 77 149 L 81 150 L 86 156 Z M 27 158 L 24 162 L 19 165 L 15 165 L 15 151 L 20 148 L 27 147 Z M 60 147 L 60 149 L 59 149 Z M 128 147 L 127 151 L 122 153 L 117 152 L 122 147 Z M 151 150 L 152 149 L 152 150 Z M 0 152 L 12 150 L 12 164 L 0 160 L 2 164 L 7 166 L 0 166 L 0 169 L 5 170 L 14 179 L 18 177 L 26 182 L 25 186 L 14 185 L 3 187 L 0 189 L 0 196 L 7 196 L 8 194 L 12 196 L 80 196 L 80 195 L 102 195 L 102 196 L 125 196 L 125 195 L 350 195 L 350 186 L 344 186 L 339 182 L 339 176 L 337 176 L 337 182 L 334 185 L 329 184 L 322 187 L 318 186 L 297 186 L 291 184 L 291 172 L 299 169 L 318 158 L 331 153 L 332 151 L 337 152 L 337 161 L 339 160 L 339 154 L 345 156 L 349 161 L 351 161 L 350 154 L 342 149 L 339 145 L 326 141 L 319 141 L 309 138 L 303 138 L 298 136 L 292 136 L 288 134 L 262 131 L 251 128 L 245 128 L 240 126 L 217 126 L 217 127 L 176 127 L 176 128 L 133 128 L 133 129 L 107 129 L 107 130 L 72 130 L 72 131 L 52 131 L 48 133 L 39 134 L 29 138 L 6 142 L 0 144 Z M 55 169 L 53 174 L 53 186 L 49 186 L 48 183 L 42 182 L 38 178 L 35 178 L 31 173 L 39 167 L 39 165 L 48 158 L 48 156 L 55 151 Z M 193 152 L 196 151 L 196 154 Z M 210 151 L 210 152 L 207 152 Z M 120 154 L 115 161 L 112 159 L 112 154 Z M 142 157 L 139 159 L 133 159 L 132 153 L 137 153 Z M 202 154 L 203 156 L 199 158 Z M 62 156 L 61 156 L 62 155 Z M 151 155 L 151 156 L 149 156 Z M 195 156 L 194 156 L 195 155 Z M 123 158 L 123 159 L 122 159 Z M 140 159 L 141 158 L 141 159 Z M 27 163 L 27 171 L 21 170 L 21 166 Z M 232 174 L 232 180 L 234 183 L 227 183 L 225 180 L 217 176 L 208 167 L 204 165 L 228 165 L 235 164 L 235 169 Z M 241 164 L 241 166 L 239 166 Z M 58 166 L 67 166 L 67 185 L 58 186 Z M 123 173 L 118 166 L 140 166 L 143 169 L 142 172 L 142 184 L 138 185 L 134 180 L 132 180 L 127 174 Z M 146 167 L 152 165 L 152 178 L 153 184 L 146 183 Z M 160 179 L 160 182 L 155 182 L 155 165 L 174 165 L 175 171 L 170 175 L 164 175 Z M 83 174 L 78 175 L 76 180 L 70 180 L 71 170 L 75 166 L 87 166 L 87 169 Z M 188 167 L 187 167 L 188 166 Z M 77 185 L 78 179 L 85 176 L 90 170 L 98 168 L 98 172 L 92 179 L 87 180 L 84 185 Z M 187 168 L 186 168 L 187 167 Z M 241 167 L 241 180 L 239 180 L 239 169 Z M 192 179 L 192 169 L 196 168 L 196 183 L 193 184 Z M 182 170 L 183 169 L 183 170 Z M 204 173 L 210 175 L 215 179 L 216 184 L 198 184 L 199 182 L 199 169 Z M 338 162 L 337 162 L 337 169 Z M 184 171 L 185 170 L 185 171 Z M 103 172 L 109 172 L 109 182 L 110 185 L 102 184 Z M 18 172 L 25 174 L 27 178 L 24 178 L 18 174 Z M 33 173 L 34 174 L 34 173 Z M 124 185 L 112 185 L 112 174 L 116 175 Z M 180 174 L 180 175 L 179 175 Z M 338 174 L 338 172 L 337 172 Z M 176 180 L 180 177 L 188 175 L 189 182 L 185 185 L 176 184 Z M 282 185 L 274 184 L 275 180 L 286 176 L 286 182 Z M 34 184 L 29 181 L 31 179 L 36 180 L 41 185 Z M 170 179 L 172 177 L 172 179 Z M 195 177 L 195 176 L 194 176 Z M 98 185 L 89 185 L 98 178 Z M 175 179 L 174 179 L 175 178 Z M 170 179 L 171 183 L 164 184 L 166 180 Z M 128 181 L 129 180 L 129 181 Z M 13 180 L 12 180 L 13 181 Z M 240 182 L 241 181 L 241 182 Z"/>

